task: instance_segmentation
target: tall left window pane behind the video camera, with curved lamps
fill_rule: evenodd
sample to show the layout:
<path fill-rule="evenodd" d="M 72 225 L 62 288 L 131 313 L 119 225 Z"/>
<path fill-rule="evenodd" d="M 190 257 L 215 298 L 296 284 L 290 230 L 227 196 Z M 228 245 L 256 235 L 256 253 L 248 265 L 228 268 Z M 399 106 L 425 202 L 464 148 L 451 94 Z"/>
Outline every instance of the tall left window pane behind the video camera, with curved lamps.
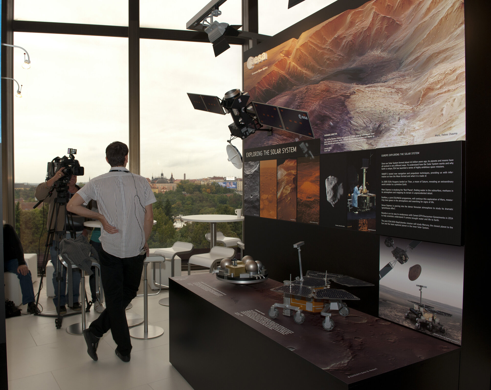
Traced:
<path fill-rule="evenodd" d="M 128 142 L 128 39 L 16 32 L 14 43 L 31 60 L 23 69 L 23 52 L 14 49 L 14 79 L 23 84 L 22 97 L 13 98 L 15 222 L 24 251 L 37 253 L 46 220 L 32 206 L 47 162 L 77 149 L 80 184 L 108 171 L 110 142 Z M 46 227 L 41 253 L 45 239 Z"/>

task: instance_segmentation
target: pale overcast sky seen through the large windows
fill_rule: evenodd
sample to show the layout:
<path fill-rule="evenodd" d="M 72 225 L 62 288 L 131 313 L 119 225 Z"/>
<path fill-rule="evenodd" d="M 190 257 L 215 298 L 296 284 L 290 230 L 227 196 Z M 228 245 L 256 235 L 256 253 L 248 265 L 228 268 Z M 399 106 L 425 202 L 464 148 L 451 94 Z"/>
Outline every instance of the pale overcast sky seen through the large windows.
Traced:
<path fill-rule="evenodd" d="M 140 25 L 185 28 L 207 0 L 169 2 L 140 0 Z M 288 0 L 259 1 L 259 32 L 273 35 L 330 4 L 305 0 L 287 9 Z M 49 22 L 127 25 L 126 1 L 16 0 L 15 19 Z M 241 24 L 241 1 L 228 0 L 221 22 Z M 56 10 L 56 12 L 54 12 Z M 95 10 L 95 12 L 94 12 Z M 15 181 L 45 179 L 46 163 L 78 149 L 85 167 L 79 181 L 109 168 L 109 142 L 128 142 L 128 39 L 98 36 L 22 33 L 14 44 L 14 78 L 23 84 L 14 98 Z M 211 44 L 140 40 L 140 173 L 170 177 L 242 176 L 227 162 L 230 115 L 195 111 L 186 92 L 223 97 L 242 87 L 241 47 L 218 57 Z M 14 83 L 15 84 L 15 83 Z M 16 88 L 14 88 L 16 90 Z M 241 142 L 234 144 L 241 149 Z"/>

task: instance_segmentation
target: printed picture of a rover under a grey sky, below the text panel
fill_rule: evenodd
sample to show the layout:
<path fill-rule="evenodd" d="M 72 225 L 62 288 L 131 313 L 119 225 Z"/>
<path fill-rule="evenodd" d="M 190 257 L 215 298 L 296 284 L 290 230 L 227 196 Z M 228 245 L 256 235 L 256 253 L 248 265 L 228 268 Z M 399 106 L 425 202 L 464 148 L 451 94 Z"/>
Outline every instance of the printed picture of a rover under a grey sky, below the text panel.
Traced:
<path fill-rule="evenodd" d="M 379 316 L 461 345 L 464 247 L 380 240 Z"/>

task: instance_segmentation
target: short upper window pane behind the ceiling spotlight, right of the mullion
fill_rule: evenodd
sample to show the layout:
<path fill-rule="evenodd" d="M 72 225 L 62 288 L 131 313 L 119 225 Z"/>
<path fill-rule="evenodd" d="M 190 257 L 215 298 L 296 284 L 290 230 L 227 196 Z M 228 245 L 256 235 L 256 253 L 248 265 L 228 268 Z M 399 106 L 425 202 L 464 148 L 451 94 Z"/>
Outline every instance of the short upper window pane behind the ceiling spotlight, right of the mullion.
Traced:
<path fill-rule="evenodd" d="M 186 29 L 186 23 L 209 1 L 140 0 L 140 27 Z M 220 6 L 222 14 L 214 20 L 242 25 L 242 0 L 228 0 Z"/>

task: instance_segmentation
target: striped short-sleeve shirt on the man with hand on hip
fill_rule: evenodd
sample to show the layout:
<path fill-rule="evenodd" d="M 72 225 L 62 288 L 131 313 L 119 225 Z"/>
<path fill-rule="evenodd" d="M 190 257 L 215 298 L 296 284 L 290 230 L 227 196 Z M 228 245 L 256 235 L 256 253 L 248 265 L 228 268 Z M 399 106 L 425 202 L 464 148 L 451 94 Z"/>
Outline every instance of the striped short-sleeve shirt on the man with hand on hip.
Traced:
<path fill-rule="evenodd" d="M 145 206 L 157 201 L 147 179 L 124 167 L 111 167 L 108 173 L 90 179 L 77 194 L 85 204 L 96 200 L 99 213 L 118 229 L 110 234 L 101 227 L 104 251 L 120 258 L 133 257 L 141 251 L 145 244 Z"/>

